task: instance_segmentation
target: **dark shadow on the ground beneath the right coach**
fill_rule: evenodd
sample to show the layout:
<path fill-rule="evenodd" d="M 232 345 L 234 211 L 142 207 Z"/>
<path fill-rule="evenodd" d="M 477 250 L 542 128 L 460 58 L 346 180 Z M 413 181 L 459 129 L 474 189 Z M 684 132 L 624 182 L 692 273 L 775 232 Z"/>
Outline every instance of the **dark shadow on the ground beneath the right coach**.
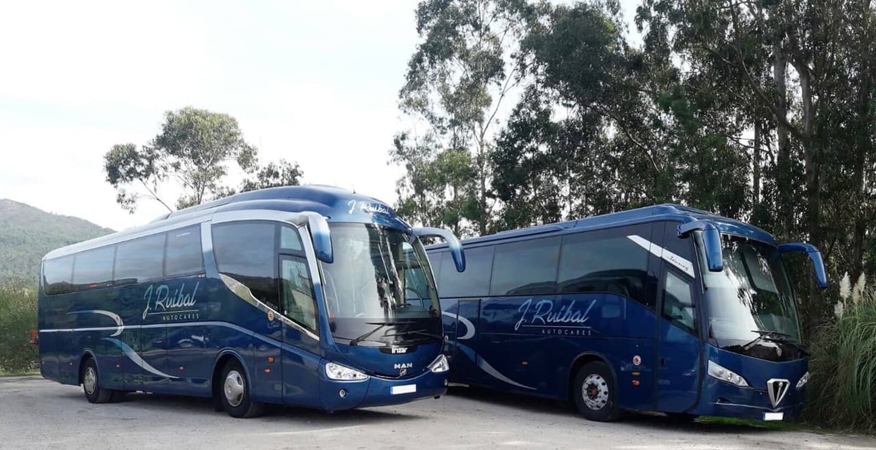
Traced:
<path fill-rule="evenodd" d="M 478 402 L 500 404 L 510 408 L 519 408 L 529 412 L 542 412 L 546 414 L 563 414 L 569 417 L 578 417 L 575 407 L 571 403 L 559 400 L 549 400 L 523 395 L 509 395 L 483 388 L 451 387 L 449 396 L 468 398 Z M 586 420 L 581 418 L 581 420 Z M 596 422 L 591 422 L 597 424 Z M 618 419 L 618 424 L 644 426 L 654 429 L 673 429 L 679 432 L 705 432 L 705 433 L 759 433 L 781 431 L 783 428 L 793 428 L 792 425 L 766 425 L 755 421 L 738 419 L 700 418 L 692 422 L 679 422 L 668 418 L 661 413 L 638 413 L 626 412 Z M 761 425 L 763 424 L 763 425 Z"/>

